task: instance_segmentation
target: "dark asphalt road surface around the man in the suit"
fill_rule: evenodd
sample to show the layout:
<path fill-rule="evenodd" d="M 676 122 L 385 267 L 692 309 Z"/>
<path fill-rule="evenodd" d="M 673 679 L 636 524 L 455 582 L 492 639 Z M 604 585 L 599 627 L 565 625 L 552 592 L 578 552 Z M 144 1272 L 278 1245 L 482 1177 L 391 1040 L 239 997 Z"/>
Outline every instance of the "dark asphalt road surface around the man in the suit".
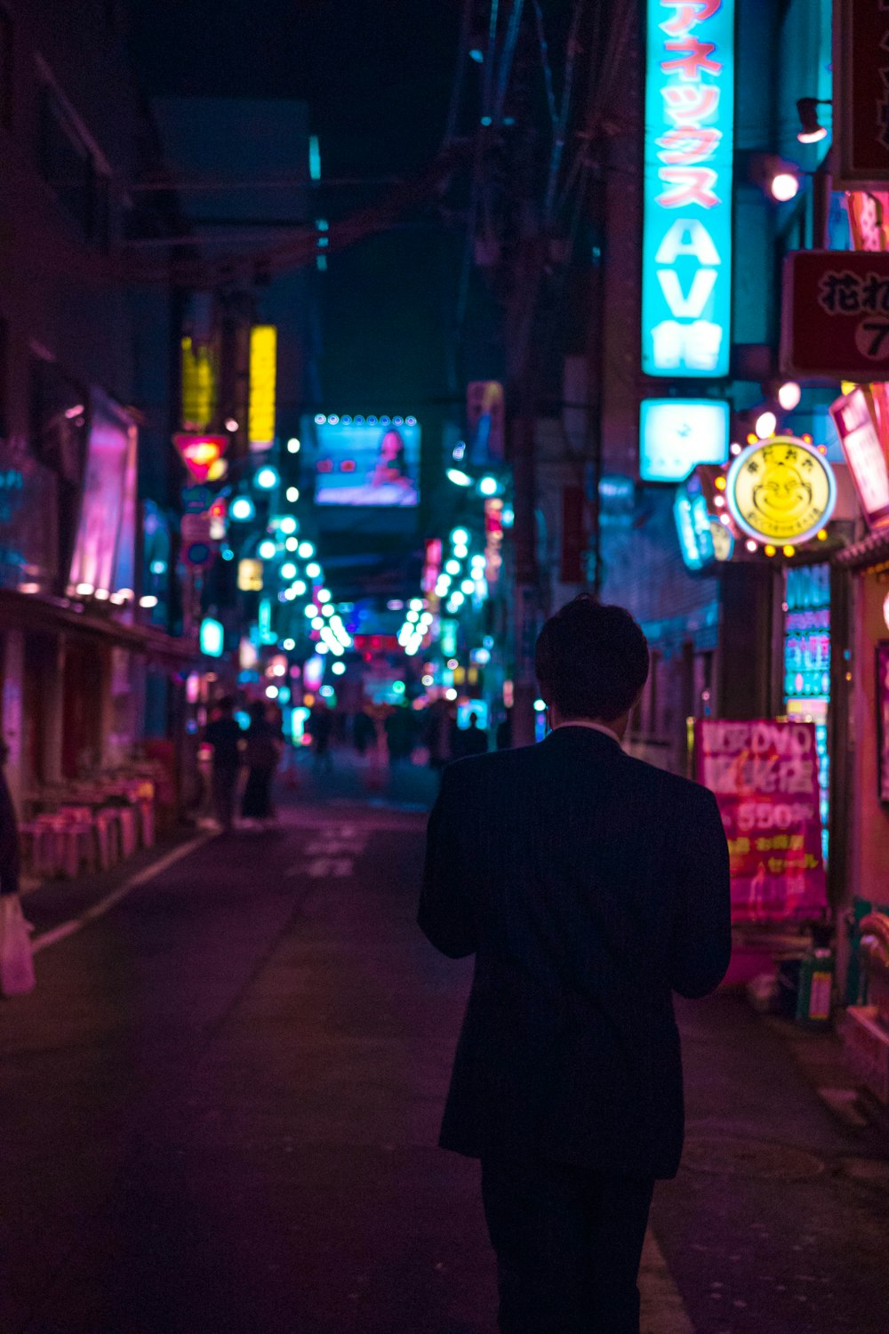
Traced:
<path fill-rule="evenodd" d="M 196 847 L 3 1003 L 3 1334 L 494 1334 L 477 1165 L 436 1147 L 472 964 L 415 926 L 399 782 L 355 806 L 325 778 Z M 732 995 L 681 1026 L 645 1334 L 885 1334 L 889 1146 L 818 1098 L 833 1039 Z"/>

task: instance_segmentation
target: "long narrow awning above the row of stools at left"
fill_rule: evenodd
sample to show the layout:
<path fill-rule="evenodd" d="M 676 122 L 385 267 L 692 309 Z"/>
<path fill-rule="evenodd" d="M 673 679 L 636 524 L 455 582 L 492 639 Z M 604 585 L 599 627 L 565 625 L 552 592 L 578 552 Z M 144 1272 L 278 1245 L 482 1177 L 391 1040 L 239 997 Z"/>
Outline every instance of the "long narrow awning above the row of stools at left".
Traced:
<path fill-rule="evenodd" d="M 176 639 L 153 626 L 128 626 L 61 598 L 0 588 L 0 630 L 7 628 L 85 635 L 176 666 L 200 662 L 197 644 Z"/>

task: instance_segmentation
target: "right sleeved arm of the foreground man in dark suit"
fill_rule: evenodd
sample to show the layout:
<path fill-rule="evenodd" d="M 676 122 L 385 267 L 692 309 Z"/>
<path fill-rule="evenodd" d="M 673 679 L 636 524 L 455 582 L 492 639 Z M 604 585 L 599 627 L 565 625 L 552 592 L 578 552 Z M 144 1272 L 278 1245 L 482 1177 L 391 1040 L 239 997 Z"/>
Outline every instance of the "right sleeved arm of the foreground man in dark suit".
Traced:
<path fill-rule="evenodd" d="M 678 848 L 670 986 L 696 999 L 720 984 L 732 955 L 729 848 L 716 798 L 694 791 Z"/>

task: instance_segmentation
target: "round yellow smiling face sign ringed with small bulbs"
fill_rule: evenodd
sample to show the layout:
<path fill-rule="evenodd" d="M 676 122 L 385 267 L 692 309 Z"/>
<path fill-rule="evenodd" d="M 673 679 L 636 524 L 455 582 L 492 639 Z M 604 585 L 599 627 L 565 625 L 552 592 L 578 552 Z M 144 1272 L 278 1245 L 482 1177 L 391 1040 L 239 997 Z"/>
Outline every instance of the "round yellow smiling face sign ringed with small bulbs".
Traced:
<path fill-rule="evenodd" d="M 774 435 L 738 454 L 726 494 L 732 518 L 750 538 L 800 544 L 829 523 L 837 484 L 814 446 Z"/>

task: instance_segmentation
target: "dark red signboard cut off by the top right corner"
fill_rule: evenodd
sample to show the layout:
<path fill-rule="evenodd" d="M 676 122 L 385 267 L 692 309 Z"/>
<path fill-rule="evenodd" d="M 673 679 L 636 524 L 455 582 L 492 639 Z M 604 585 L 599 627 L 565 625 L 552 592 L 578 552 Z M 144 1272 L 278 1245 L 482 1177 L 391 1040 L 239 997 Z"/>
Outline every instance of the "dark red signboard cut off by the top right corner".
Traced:
<path fill-rule="evenodd" d="M 889 4 L 834 0 L 834 187 L 889 180 Z"/>

